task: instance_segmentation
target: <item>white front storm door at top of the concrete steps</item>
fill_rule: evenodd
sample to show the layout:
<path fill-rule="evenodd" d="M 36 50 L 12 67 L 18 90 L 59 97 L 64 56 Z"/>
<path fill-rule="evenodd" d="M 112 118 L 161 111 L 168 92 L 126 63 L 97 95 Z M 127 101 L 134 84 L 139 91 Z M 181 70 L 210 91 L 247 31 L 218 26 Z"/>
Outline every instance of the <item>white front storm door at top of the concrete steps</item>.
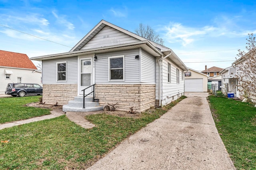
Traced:
<path fill-rule="evenodd" d="M 80 59 L 80 95 L 83 94 L 83 89 L 92 85 L 92 58 Z M 92 87 L 85 90 L 85 95 L 92 92 Z M 92 95 L 92 94 L 90 94 Z"/>

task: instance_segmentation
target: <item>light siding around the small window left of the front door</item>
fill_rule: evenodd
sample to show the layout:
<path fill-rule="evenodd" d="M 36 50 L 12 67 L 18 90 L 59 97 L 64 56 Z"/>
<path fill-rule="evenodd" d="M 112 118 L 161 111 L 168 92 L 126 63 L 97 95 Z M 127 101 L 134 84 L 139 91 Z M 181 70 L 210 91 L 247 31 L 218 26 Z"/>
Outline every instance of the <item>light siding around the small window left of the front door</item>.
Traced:
<path fill-rule="evenodd" d="M 66 64 L 66 81 L 57 82 L 57 64 L 59 62 L 67 62 Z M 42 72 L 42 82 L 43 84 L 63 84 L 63 83 L 78 83 L 78 59 L 77 57 L 63 58 L 63 59 L 52 59 L 44 60 Z"/>

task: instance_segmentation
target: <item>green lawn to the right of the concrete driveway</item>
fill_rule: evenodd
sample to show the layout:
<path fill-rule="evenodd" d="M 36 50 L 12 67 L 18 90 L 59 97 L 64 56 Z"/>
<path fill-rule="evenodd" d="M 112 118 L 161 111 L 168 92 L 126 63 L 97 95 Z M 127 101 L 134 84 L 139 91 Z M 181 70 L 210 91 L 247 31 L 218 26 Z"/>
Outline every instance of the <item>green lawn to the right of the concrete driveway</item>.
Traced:
<path fill-rule="evenodd" d="M 256 169 L 256 108 L 224 97 L 210 96 L 220 137 L 238 170 Z"/>

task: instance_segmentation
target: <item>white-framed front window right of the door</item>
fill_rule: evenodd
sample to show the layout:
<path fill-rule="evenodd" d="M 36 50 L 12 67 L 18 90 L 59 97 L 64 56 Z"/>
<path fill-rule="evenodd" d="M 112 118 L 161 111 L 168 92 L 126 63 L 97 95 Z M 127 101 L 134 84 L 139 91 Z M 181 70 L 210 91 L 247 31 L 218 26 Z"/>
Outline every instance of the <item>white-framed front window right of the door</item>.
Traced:
<path fill-rule="evenodd" d="M 124 81 L 124 55 L 108 57 L 109 81 Z"/>

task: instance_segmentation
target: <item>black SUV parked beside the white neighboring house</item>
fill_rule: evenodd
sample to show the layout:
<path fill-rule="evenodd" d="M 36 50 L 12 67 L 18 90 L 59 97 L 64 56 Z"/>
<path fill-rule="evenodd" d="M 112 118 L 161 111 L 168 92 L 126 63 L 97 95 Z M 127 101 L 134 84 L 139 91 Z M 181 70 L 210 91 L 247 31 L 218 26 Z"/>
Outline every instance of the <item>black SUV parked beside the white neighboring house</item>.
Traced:
<path fill-rule="evenodd" d="M 25 95 L 42 95 L 43 87 L 34 83 L 8 83 L 6 95 L 24 97 Z"/>

